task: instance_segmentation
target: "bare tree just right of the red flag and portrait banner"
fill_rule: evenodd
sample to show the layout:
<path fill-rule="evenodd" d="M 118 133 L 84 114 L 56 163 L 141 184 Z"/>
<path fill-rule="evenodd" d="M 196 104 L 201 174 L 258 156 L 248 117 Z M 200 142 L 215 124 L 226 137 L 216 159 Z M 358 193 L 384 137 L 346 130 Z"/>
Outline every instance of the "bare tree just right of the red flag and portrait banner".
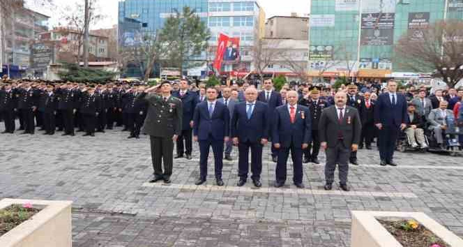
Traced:
<path fill-rule="evenodd" d="M 259 39 L 255 42 L 254 47 L 252 47 L 251 56 L 254 63 L 255 70 L 259 74 L 259 77 L 262 78 L 264 75 L 264 70 L 278 61 L 282 55 L 287 52 L 286 49 L 280 47 L 281 40 L 278 39 Z"/>

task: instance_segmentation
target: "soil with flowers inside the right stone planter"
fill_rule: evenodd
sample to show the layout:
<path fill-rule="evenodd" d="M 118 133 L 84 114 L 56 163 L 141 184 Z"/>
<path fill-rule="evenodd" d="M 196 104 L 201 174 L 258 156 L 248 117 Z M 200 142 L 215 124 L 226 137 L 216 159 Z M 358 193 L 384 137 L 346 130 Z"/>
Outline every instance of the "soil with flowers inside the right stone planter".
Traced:
<path fill-rule="evenodd" d="M 407 220 L 378 220 L 381 225 L 386 227 L 386 230 L 393 234 L 395 239 L 404 247 L 430 247 L 433 244 L 439 244 L 441 247 L 450 247 L 442 239 L 427 230 L 423 225 L 419 225 L 414 230 L 404 230 L 401 225 L 406 224 Z"/>

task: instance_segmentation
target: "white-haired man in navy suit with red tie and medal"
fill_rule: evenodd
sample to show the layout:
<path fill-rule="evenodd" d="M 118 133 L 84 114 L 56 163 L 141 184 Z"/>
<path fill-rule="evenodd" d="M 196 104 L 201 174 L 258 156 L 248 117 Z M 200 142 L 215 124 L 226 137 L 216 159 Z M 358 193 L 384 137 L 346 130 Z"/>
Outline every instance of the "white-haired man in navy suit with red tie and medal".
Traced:
<path fill-rule="evenodd" d="M 273 147 L 279 150 L 275 187 L 284 186 L 287 174 L 286 163 L 289 150 L 291 150 L 294 185 L 297 188 L 304 188 L 302 150 L 309 147 L 312 135 L 310 110 L 308 107 L 297 104 L 298 93 L 296 91 L 289 91 L 286 99 L 288 104 L 277 107 L 275 110 L 275 120 L 272 125 Z"/>

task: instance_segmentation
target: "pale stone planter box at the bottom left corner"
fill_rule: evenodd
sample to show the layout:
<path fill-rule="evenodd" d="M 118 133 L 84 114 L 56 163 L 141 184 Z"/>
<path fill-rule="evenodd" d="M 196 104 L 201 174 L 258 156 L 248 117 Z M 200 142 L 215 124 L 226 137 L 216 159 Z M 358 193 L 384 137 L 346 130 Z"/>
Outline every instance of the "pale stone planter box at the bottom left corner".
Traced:
<path fill-rule="evenodd" d="M 12 204 L 31 203 L 40 210 L 0 237 L 1 247 L 72 247 L 70 201 L 3 199 L 0 209 Z"/>

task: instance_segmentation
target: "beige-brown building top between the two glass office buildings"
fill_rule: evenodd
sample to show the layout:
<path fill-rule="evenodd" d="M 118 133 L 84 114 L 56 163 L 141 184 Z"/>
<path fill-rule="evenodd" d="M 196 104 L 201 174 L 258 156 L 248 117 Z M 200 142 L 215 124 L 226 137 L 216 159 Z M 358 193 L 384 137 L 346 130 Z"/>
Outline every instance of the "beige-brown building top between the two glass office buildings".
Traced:
<path fill-rule="evenodd" d="M 309 17 L 273 16 L 265 24 L 266 38 L 291 38 L 294 40 L 309 39 Z"/>

